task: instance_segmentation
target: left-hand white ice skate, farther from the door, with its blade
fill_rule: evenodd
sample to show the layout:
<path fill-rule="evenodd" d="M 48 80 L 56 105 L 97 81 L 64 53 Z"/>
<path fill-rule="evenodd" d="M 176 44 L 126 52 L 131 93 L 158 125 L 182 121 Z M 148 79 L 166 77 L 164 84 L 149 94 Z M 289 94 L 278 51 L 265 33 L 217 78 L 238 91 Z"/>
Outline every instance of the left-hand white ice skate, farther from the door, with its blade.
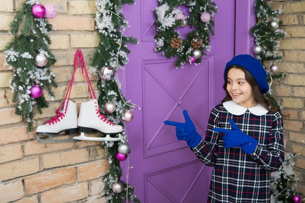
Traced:
<path fill-rule="evenodd" d="M 53 135 L 59 134 L 63 131 L 65 134 L 72 134 L 72 137 L 77 133 L 76 104 L 71 100 L 65 99 L 63 105 L 61 105 L 56 112 L 56 116 L 46 121 L 43 125 L 37 127 L 37 141 L 40 143 L 64 143 L 79 141 L 75 139 L 53 139 Z"/>

